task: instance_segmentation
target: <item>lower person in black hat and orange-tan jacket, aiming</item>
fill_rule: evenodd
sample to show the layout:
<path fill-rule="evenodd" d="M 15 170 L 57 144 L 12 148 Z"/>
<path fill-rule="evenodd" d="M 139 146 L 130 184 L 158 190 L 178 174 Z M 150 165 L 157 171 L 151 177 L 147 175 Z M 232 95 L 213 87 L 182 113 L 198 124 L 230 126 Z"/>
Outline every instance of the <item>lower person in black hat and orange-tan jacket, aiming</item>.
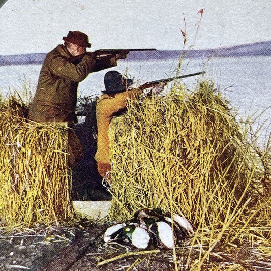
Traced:
<path fill-rule="evenodd" d="M 97 100 L 97 152 L 95 160 L 98 164 L 99 174 L 110 184 L 110 172 L 112 169 L 109 149 L 109 125 L 114 116 L 118 116 L 126 108 L 128 99 L 134 100 L 139 97 L 142 88 L 131 87 L 132 79 L 128 79 L 117 71 L 110 71 L 105 74 L 105 91 L 100 99 Z M 162 87 L 161 87 L 162 86 Z M 149 93 L 158 93 L 163 89 L 164 84 L 160 84 Z"/>

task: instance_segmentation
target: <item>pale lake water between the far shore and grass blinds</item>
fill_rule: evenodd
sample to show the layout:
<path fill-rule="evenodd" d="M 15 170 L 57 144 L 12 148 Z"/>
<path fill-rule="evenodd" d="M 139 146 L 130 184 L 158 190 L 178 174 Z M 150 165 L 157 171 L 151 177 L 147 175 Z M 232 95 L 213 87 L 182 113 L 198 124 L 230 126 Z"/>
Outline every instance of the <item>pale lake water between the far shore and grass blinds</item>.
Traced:
<path fill-rule="evenodd" d="M 271 57 L 253 56 L 238 58 L 184 59 L 182 74 L 206 71 L 205 78 L 212 79 L 225 98 L 238 109 L 240 118 L 257 118 L 254 129 L 262 124 L 260 137 L 264 142 L 271 133 Z M 104 90 L 104 74 L 109 70 L 127 72 L 135 82 L 153 81 L 176 76 L 178 60 L 163 61 L 119 61 L 118 66 L 90 74 L 78 87 L 78 97 L 100 95 Z M 41 65 L 1 66 L 0 89 L 2 96 L 23 85 L 35 93 Z M 193 89 L 198 77 L 183 79 Z"/>

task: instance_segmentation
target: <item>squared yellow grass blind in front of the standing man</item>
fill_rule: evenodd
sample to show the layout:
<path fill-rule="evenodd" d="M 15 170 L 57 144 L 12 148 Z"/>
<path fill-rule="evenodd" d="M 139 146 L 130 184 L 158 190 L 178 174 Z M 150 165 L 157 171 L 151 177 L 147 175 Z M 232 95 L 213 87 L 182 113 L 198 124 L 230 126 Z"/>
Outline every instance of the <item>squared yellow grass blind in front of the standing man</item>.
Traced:
<path fill-rule="evenodd" d="M 0 105 L 1 226 L 57 224 L 72 216 L 67 129 L 27 122 L 14 99 Z"/>

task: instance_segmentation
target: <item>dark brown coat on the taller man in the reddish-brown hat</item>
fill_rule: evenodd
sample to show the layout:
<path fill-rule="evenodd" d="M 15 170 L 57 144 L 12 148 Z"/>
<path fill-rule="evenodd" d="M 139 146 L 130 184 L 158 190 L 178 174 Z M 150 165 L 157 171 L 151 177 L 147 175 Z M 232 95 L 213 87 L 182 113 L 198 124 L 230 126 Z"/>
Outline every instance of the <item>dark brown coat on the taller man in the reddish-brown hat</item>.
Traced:
<path fill-rule="evenodd" d="M 78 83 L 97 71 L 96 61 L 86 54 L 78 64 L 68 61 L 71 57 L 64 45 L 49 52 L 41 69 L 37 91 L 28 118 L 36 122 L 77 123 L 75 107 Z M 116 66 L 115 59 L 106 64 Z"/>

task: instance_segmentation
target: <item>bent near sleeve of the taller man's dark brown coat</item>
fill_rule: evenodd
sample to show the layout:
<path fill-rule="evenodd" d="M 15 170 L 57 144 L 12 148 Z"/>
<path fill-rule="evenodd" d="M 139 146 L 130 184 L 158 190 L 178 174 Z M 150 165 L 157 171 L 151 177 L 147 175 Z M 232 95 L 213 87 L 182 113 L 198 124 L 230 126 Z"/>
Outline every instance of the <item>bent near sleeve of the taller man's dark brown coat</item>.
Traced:
<path fill-rule="evenodd" d="M 56 76 L 81 82 L 93 71 L 94 67 L 95 59 L 89 54 L 85 55 L 77 65 L 63 56 L 55 56 L 51 59 L 49 70 Z"/>

